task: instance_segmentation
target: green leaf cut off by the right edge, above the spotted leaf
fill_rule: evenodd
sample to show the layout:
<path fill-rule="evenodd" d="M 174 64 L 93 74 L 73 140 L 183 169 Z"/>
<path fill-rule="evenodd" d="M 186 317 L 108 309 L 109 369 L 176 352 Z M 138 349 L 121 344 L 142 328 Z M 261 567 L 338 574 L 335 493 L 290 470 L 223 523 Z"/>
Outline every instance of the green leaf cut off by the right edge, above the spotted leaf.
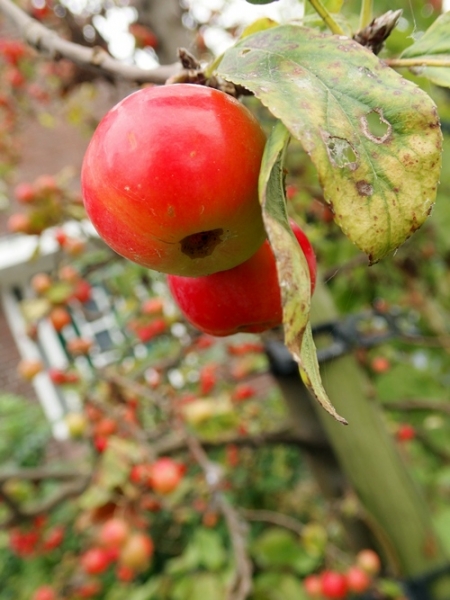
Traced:
<path fill-rule="evenodd" d="M 450 12 L 440 15 L 417 42 L 404 50 L 400 58 L 434 63 L 446 61 L 446 66 L 421 66 L 417 72 L 436 85 L 450 87 Z"/>

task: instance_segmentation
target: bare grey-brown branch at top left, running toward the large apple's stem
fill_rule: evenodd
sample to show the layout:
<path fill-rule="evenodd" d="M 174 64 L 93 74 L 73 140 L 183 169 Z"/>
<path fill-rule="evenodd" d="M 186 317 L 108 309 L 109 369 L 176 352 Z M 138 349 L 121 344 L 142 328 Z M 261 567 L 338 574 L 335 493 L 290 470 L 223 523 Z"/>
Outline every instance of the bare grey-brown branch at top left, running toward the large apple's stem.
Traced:
<path fill-rule="evenodd" d="M 11 0 L 0 0 L 0 12 L 13 21 L 30 46 L 49 55 L 53 60 L 67 58 L 78 65 L 88 66 L 137 83 L 164 84 L 169 77 L 180 71 L 178 63 L 149 70 L 126 65 L 114 59 L 103 48 L 88 48 L 65 40 L 31 18 Z"/>

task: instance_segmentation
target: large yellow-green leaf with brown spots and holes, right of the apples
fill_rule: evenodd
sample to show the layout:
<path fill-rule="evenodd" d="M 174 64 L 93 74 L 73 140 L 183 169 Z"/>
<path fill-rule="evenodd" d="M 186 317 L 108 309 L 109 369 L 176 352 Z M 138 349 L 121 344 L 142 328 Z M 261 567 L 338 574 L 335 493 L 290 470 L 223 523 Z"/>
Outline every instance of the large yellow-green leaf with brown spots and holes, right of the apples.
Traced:
<path fill-rule="evenodd" d="M 441 164 L 436 107 L 370 51 L 280 25 L 227 50 L 218 75 L 251 90 L 300 140 L 336 223 L 371 262 L 426 220 Z"/>

